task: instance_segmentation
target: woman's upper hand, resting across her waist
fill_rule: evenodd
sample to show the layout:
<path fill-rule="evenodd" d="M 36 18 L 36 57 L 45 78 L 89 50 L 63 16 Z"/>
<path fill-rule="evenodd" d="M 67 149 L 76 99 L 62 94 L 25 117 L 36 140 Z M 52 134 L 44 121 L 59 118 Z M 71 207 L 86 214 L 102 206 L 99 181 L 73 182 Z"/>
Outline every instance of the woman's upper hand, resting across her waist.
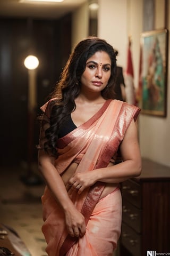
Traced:
<path fill-rule="evenodd" d="M 75 173 L 66 184 L 68 194 L 72 194 L 73 191 L 78 191 L 78 194 L 81 194 L 85 188 L 94 185 L 97 181 L 94 174 L 95 171 Z"/>

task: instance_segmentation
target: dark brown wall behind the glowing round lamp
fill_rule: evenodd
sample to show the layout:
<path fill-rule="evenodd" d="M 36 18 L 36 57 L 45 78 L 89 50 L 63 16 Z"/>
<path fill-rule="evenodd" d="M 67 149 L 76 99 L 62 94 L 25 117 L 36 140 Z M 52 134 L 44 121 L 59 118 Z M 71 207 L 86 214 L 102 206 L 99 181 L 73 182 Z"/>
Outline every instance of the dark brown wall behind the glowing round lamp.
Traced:
<path fill-rule="evenodd" d="M 71 14 L 60 20 L 0 18 L 0 166 L 28 158 L 28 54 L 39 59 L 37 115 L 58 81 L 71 52 Z M 35 120 L 33 159 L 37 161 L 39 124 Z"/>

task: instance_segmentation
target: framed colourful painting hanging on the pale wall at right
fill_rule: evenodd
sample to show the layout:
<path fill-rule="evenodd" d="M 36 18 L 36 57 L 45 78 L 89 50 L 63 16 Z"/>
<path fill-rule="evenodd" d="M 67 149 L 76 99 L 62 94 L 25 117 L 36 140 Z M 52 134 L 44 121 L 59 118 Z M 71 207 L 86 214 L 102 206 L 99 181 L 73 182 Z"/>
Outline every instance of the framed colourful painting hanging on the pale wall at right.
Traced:
<path fill-rule="evenodd" d="M 141 113 L 166 116 L 168 30 L 146 31 L 141 35 Z"/>

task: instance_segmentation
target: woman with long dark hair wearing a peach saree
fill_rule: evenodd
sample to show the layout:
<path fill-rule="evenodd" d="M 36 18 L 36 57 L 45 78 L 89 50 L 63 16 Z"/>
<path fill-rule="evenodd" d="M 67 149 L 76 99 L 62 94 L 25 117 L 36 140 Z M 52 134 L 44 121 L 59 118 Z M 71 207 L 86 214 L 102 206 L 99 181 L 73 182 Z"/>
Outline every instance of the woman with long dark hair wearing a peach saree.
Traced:
<path fill-rule="evenodd" d="M 139 109 L 112 100 L 116 54 L 97 37 L 70 55 L 44 111 L 39 170 L 43 233 L 50 256 L 108 256 L 121 230 L 118 183 L 141 172 L 135 119 Z M 120 150 L 122 162 L 115 164 Z"/>

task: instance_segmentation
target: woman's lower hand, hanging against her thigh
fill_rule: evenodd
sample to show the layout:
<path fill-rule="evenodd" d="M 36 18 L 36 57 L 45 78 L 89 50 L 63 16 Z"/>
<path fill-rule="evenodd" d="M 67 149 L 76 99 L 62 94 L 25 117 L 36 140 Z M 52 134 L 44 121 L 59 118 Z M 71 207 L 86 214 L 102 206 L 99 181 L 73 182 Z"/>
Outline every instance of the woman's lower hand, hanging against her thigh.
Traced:
<path fill-rule="evenodd" d="M 64 211 L 67 231 L 72 237 L 82 237 L 86 233 L 84 216 L 75 209 L 74 205 Z"/>

